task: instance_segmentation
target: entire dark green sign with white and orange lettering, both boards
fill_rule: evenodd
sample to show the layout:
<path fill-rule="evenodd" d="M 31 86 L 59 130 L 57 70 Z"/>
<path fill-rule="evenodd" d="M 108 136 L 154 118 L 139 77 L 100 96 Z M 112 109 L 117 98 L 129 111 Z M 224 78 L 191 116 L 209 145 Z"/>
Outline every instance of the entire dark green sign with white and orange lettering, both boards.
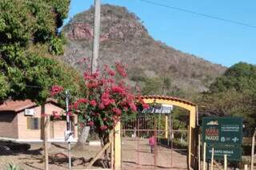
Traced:
<path fill-rule="evenodd" d="M 241 160 L 242 117 L 203 117 L 202 140 L 206 142 L 206 157 L 210 159 L 214 148 L 214 159 Z"/>

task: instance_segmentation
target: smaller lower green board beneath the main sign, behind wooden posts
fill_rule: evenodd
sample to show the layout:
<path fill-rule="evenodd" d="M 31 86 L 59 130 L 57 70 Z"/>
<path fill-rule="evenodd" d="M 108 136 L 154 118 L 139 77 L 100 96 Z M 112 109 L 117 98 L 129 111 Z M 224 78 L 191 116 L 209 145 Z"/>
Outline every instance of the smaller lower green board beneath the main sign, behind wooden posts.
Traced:
<path fill-rule="evenodd" d="M 241 160 L 242 148 L 239 146 L 219 146 L 219 145 L 206 145 L 206 159 L 211 159 L 212 148 L 214 148 L 214 160 L 224 160 L 224 155 L 227 160 Z"/>

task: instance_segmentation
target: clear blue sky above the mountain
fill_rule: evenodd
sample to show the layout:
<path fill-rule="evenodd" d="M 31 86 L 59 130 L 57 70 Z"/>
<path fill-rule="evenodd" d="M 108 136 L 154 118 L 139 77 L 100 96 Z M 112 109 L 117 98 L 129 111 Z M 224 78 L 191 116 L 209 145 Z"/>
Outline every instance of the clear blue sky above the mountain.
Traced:
<path fill-rule="evenodd" d="M 256 26 L 255 0 L 148 1 Z M 238 61 L 256 64 L 256 28 L 171 10 L 141 0 L 102 0 L 102 3 L 126 6 L 141 18 L 154 39 L 182 52 L 226 66 Z M 70 18 L 93 4 L 94 0 L 71 0 Z"/>

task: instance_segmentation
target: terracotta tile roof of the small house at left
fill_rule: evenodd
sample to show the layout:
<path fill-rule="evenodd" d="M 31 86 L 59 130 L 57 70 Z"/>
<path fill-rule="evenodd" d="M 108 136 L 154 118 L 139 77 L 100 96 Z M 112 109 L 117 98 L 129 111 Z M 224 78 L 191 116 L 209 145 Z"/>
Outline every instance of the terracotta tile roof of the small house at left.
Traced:
<path fill-rule="evenodd" d="M 46 102 L 54 102 L 57 103 L 54 99 L 48 99 Z M 10 112 L 18 112 L 26 108 L 30 108 L 36 106 L 37 104 L 29 99 L 25 101 L 5 101 L 2 105 L 0 105 L 0 112 L 2 111 L 10 111 Z"/>

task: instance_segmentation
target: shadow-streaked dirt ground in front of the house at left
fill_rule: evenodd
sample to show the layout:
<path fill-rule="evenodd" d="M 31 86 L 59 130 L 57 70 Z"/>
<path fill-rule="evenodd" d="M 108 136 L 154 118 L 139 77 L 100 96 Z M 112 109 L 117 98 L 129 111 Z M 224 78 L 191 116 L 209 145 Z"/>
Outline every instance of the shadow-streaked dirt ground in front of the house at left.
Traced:
<path fill-rule="evenodd" d="M 22 170 L 30 169 L 45 169 L 43 162 L 43 150 L 42 143 L 30 144 L 31 148 L 27 152 L 0 152 L 0 169 L 6 169 L 8 164 L 16 164 Z M 71 148 L 74 147 L 74 144 L 71 144 Z M 49 147 L 49 169 L 50 170 L 62 170 L 68 169 L 68 145 L 53 143 Z M 74 151 L 71 149 L 72 162 L 78 164 L 74 169 L 84 169 L 84 164 L 90 162 L 90 158 L 95 156 L 101 147 L 87 146 L 87 150 L 80 152 Z M 84 159 L 82 159 L 84 157 Z M 74 162 L 76 161 L 76 163 Z M 97 168 L 97 164 L 95 166 Z"/>

